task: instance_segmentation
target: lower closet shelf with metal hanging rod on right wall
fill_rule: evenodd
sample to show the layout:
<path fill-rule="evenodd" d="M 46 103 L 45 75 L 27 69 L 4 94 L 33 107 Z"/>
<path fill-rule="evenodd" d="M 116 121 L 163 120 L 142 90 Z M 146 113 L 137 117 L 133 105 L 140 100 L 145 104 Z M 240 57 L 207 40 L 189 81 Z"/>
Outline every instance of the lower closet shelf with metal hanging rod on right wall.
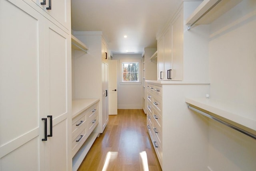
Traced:
<path fill-rule="evenodd" d="M 256 139 L 255 118 L 245 117 L 256 112 L 254 108 L 238 108 L 236 105 L 210 98 L 186 98 L 188 108 Z"/>

